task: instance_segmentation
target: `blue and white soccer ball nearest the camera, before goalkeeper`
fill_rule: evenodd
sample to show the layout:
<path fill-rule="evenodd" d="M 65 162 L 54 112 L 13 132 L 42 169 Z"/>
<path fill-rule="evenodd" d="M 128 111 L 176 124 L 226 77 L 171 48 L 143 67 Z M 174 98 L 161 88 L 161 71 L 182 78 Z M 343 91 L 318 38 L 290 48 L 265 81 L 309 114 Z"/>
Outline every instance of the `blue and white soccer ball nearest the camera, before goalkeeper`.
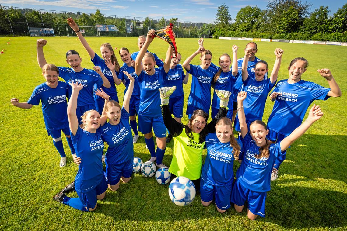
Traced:
<path fill-rule="evenodd" d="M 169 185 L 169 196 L 178 206 L 186 206 L 193 202 L 195 186 L 187 177 L 176 177 Z"/>

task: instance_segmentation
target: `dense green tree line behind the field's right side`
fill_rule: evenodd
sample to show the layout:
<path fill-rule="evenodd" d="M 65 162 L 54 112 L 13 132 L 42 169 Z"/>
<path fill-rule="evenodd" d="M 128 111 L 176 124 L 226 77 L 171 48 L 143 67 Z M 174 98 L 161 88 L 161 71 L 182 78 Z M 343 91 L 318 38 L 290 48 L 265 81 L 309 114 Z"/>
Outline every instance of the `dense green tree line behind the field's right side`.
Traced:
<path fill-rule="evenodd" d="M 226 4 L 218 6 L 213 37 L 277 38 L 347 42 L 347 3 L 329 16 L 328 6 L 309 12 L 311 3 L 272 0 L 265 9 L 246 6 L 232 19 Z"/>

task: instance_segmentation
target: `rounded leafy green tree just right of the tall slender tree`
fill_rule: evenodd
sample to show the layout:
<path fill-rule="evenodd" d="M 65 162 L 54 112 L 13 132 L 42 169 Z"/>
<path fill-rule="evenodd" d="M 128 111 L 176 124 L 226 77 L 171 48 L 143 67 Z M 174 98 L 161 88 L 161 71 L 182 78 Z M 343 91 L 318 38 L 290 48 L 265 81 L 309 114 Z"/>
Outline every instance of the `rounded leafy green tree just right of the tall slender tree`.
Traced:
<path fill-rule="evenodd" d="M 261 10 L 259 7 L 243 7 L 237 12 L 235 25 L 239 30 L 251 30 L 254 27 L 256 28 L 260 15 Z"/>

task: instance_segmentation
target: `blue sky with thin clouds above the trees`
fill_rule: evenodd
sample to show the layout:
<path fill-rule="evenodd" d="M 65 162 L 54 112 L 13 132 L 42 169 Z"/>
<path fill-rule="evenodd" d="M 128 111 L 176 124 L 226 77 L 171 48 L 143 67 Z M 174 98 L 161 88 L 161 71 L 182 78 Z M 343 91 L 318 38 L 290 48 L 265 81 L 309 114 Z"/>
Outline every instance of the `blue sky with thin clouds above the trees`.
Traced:
<path fill-rule="evenodd" d="M 150 17 L 165 19 L 177 17 L 182 21 L 196 21 L 204 23 L 213 23 L 218 5 L 226 3 L 229 7 L 230 15 L 235 19 L 237 12 L 245 6 L 257 6 L 264 9 L 268 0 L 2 0 L 2 6 L 39 8 L 46 10 L 60 10 L 93 13 L 96 8 L 100 9 L 102 14 L 122 15 L 131 17 Z M 303 0 L 305 2 L 305 0 Z M 311 0 L 313 11 L 319 6 L 327 6 L 327 1 Z M 346 2 L 341 0 L 330 0 L 330 14 L 336 12 Z"/>

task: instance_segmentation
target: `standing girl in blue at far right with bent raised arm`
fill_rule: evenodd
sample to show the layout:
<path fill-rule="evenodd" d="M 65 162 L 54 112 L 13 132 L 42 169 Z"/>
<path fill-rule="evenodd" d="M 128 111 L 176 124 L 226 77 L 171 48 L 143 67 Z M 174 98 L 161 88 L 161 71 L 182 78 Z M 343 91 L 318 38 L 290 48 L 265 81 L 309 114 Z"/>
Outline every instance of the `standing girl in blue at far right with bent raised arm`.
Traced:
<path fill-rule="evenodd" d="M 314 100 L 327 100 L 330 97 L 340 97 L 341 90 L 329 69 L 317 70 L 324 77 L 330 88 L 322 87 L 314 82 L 302 80 L 308 62 L 304 58 L 295 58 L 288 67 L 289 78 L 281 80 L 273 89 L 270 99 L 275 101 L 268 120 L 268 139 L 278 142 L 287 137 L 304 119 L 307 108 Z M 275 161 L 271 179 L 277 179 L 277 170 L 286 156 Z"/>

